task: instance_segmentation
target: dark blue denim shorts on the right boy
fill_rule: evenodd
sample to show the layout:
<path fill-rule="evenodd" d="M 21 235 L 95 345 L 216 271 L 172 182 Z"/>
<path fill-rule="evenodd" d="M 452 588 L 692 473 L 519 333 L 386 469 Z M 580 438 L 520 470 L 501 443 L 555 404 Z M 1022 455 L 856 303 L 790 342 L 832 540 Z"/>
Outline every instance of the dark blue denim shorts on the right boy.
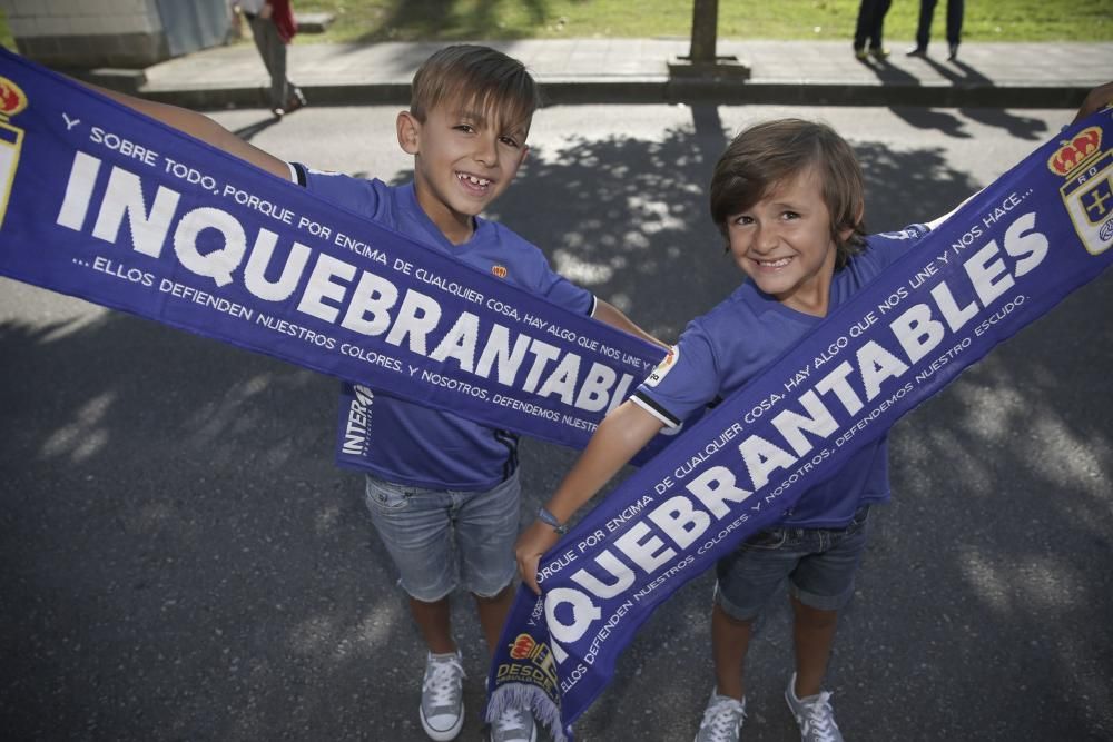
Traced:
<path fill-rule="evenodd" d="M 845 528 L 761 531 L 716 565 L 715 598 L 727 615 L 750 621 L 788 577 L 789 593 L 798 601 L 838 611 L 854 595 L 868 532 L 868 505 Z"/>

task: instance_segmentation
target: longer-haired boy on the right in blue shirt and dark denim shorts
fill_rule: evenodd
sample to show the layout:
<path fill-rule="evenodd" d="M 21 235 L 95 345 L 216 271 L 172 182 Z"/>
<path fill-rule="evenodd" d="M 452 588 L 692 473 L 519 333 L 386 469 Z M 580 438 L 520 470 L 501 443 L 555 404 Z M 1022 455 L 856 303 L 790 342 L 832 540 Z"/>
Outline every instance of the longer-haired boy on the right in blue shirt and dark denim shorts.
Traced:
<path fill-rule="evenodd" d="M 746 280 L 692 320 L 661 366 L 603 419 L 543 520 L 519 538 L 526 583 L 538 590 L 539 558 L 556 541 L 552 524 L 565 524 L 653 435 L 741 388 L 930 229 L 866 237 L 864 199 L 854 151 L 825 125 L 777 120 L 735 138 L 711 178 L 711 216 Z M 804 740 L 841 740 L 823 680 L 838 612 L 854 593 L 869 508 L 888 498 L 883 437 L 805 493 L 776 528 L 717 564 L 716 689 L 697 742 L 739 739 L 754 621 L 786 578 L 796 649 L 786 699 Z"/>

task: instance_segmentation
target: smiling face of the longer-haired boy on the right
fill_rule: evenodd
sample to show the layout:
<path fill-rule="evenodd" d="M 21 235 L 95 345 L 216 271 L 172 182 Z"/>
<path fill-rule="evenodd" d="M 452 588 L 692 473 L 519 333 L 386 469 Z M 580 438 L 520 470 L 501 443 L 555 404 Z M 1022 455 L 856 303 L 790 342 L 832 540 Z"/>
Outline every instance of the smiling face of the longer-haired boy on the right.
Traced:
<path fill-rule="evenodd" d="M 727 238 L 735 261 L 758 288 L 787 307 L 826 316 L 836 246 L 814 169 L 776 184 L 752 207 L 731 215 Z"/>

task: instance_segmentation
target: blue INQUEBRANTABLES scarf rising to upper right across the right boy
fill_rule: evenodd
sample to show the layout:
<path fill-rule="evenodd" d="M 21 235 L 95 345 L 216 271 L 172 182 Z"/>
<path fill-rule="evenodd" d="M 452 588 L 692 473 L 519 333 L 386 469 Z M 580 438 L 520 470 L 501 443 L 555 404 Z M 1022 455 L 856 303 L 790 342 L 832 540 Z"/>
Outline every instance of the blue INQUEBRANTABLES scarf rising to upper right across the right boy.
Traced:
<path fill-rule="evenodd" d="M 487 719 L 554 732 L 603 691 L 653 610 L 1113 260 L 1109 110 L 986 188 L 751 384 L 623 482 L 521 587 Z"/>

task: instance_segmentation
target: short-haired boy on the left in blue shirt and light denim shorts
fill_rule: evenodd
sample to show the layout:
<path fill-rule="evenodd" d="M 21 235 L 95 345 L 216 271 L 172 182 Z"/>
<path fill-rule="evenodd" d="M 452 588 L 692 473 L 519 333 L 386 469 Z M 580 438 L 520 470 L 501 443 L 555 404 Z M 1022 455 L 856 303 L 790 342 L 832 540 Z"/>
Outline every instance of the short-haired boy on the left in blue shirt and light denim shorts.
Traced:
<path fill-rule="evenodd" d="M 485 273 L 656 343 L 617 308 L 556 274 L 544 254 L 479 215 L 510 186 L 525 159 L 540 101 L 518 60 L 481 46 L 446 47 L 414 75 L 398 113 L 400 146 L 414 158 L 413 182 L 390 186 L 288 164 L 211 119 L 171 106 L 106 95 Z M 452 633 L 450 596 L 474 596 L 487 650 L 513 601 L 521 489 L 516 437 L 440 409 L 371 390 L 366 503 L 401 574 L 427 649 L 422 728 L 452 740 L 464 721 L 464 670 Z M 525 709 L 494 720 L 492 742 L 535 742 Z"/>

